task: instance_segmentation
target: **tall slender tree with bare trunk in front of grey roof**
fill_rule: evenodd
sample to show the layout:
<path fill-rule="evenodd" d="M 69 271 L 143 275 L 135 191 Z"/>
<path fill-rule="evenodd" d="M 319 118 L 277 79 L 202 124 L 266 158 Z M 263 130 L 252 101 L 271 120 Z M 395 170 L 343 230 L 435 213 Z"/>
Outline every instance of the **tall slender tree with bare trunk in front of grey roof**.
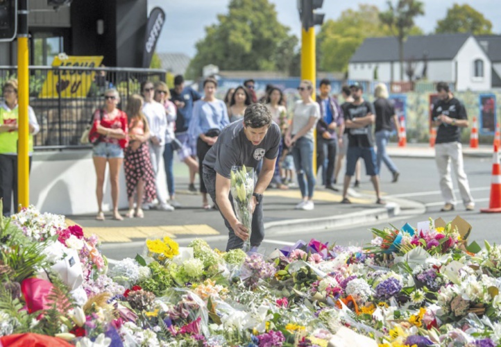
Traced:
<path fill-rule="evenodd" d="M 404 43 L 414 27 L 414 17 L 424 15 L 423 3 L 418 0 L 397 0 L 396 6 L 388 1 L 389 9 L 380 13 L 381 22 L 389 26 L 391 33 L 398 40 L 400 60 L 400 81 L 404 79 Z"/>

